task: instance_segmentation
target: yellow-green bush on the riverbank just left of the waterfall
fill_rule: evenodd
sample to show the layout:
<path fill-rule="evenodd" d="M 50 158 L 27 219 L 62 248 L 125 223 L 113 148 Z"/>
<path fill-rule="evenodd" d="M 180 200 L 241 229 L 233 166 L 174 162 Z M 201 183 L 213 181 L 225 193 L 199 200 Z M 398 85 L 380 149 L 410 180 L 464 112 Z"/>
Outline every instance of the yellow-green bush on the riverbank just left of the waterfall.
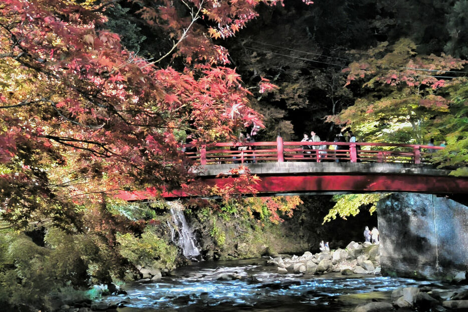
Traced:
<path fill-rule="evenodd" d="M 131 233 L 117 233 L 120 254 L 134 265 L 151 265 L 156 268 L 172 268 L 177 256 L 177 247 L 167 245 L 151 227 L 141 237 Z"/>

